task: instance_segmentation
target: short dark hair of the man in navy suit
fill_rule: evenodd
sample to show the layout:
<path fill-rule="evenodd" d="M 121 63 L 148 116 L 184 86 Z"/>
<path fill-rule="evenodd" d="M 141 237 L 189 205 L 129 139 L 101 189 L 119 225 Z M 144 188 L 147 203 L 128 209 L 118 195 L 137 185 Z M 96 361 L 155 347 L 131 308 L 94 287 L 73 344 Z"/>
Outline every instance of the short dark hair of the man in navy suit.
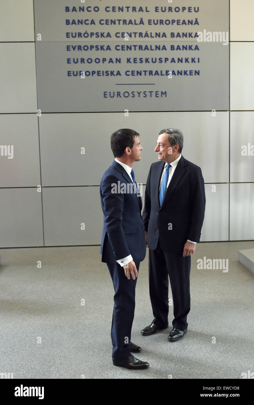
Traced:
<path fill-rule="evenodd" d="M 115 158 L 123 156 L 127 146 L 132 149 L 134 145 L 134 138 L 140 136 L 138 132 L 133 129 L 123 128 L 113 132 L 110 138 L 110 146 Z"/>

